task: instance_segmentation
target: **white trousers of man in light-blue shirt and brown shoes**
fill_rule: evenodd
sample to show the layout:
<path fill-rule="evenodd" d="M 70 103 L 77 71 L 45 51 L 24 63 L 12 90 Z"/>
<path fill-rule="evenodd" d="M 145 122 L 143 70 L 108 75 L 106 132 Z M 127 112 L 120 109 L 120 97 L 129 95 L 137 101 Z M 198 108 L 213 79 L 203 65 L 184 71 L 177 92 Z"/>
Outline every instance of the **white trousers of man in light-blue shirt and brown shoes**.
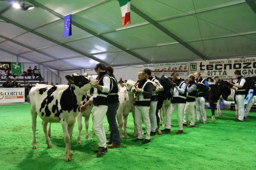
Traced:
<path fill-rule="evenodd" d="M 184 109 L 184 118 L 183 123 L 187 124 L 188 122 L 188 114 L 190 115 L 190 125 L 195 125 L 195 101 L 186 102 L 185 109 Z"/>

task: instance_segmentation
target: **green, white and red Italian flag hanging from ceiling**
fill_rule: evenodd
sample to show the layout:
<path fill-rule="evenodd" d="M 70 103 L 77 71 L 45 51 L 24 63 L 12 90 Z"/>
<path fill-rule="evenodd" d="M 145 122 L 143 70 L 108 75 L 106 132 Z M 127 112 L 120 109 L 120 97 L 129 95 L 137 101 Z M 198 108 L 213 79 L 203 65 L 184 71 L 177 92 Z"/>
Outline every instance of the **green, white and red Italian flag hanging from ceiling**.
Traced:
<path fill-rule="evenodd" d="M 131 8 L 131 0 L 119 0 L 121 13 L 122 13 L 122 27 L 124 25 L 130 24 L 130 8 Z"/>

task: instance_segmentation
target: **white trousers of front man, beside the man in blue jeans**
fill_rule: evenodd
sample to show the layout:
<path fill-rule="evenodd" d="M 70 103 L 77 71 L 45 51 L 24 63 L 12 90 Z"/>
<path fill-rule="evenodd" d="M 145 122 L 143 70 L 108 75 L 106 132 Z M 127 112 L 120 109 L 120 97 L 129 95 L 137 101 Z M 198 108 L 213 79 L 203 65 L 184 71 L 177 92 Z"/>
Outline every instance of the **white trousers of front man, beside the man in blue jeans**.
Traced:
<path fill-rule="evenodd" d="M 108 110 L 107 105 L 99 105 L 99 106 L 93 106 L 92 108 L 92 114 L 93 114 L 93 121 L 92 121 L 92 129 L 95 133 L 98 145 L 99 147 L 107 147 L 107 139 L 104 129 L 104 117 L 106 115 L 106 112 Z"/>

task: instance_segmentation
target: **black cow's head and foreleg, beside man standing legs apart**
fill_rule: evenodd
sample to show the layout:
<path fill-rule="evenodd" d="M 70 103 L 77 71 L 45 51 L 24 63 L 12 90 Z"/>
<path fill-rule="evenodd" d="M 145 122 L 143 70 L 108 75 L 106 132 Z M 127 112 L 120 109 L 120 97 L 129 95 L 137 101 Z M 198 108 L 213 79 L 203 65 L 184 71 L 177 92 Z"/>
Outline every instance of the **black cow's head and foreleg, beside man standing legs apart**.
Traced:
<path fill-rule="evenodd" d="M 159 78 L 157 76 L 155 78 L 164 87 L 164 90 L 160 91 L 158 93 L 158 100 L 157 100 L 157 107 L 156 107 L 157 131 L 158 131 L 158 134 L 162 134 L 161 129 L 160 129 L 160 125 L 159 125 L 160 118 L 158 116 L 158 111 L 162 108 L 164 100 L 167 100 L 168 97 L 170 96 L 170 88 L 176 86 L 176 83 L 174 83 L 172 81 L 172 78 L 166 77 L 164 75 L 161 78 Z"/>

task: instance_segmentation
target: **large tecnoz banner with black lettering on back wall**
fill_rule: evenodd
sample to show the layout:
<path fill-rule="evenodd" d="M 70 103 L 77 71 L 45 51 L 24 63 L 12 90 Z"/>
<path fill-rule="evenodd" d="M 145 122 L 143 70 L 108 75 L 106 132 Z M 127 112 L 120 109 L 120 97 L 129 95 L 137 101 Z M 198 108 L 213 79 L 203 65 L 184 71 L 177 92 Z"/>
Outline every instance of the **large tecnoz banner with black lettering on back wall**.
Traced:
<path fill-rule="evenodd" d="M 220 79 L 236 79 L 234 75 L 236 70 L 240 70 L 244 77 L 256 76 L 256 58 L 189 63 L 189 74 L 199 72 L 204 79 L 215 76 L 218 76 Z"/>

